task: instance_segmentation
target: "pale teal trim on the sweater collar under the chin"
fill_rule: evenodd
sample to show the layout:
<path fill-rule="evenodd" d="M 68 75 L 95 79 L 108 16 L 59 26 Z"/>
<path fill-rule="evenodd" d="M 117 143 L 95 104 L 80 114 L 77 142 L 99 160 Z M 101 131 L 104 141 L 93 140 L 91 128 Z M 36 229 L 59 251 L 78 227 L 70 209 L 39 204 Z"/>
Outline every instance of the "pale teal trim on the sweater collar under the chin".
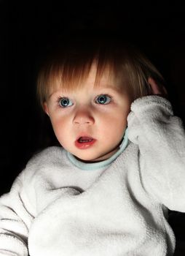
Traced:
<path fill-rule="evenodd" d="M 74 157 L 74 155 L 70 154 L 69 152 L 67 152 L 67 156 L 73 165 L 75 165 L 76 167 L 79 167 L 82 170 L 98 170 L 98 169 L 101 169 L 103 167 L 110 165 L 111 162 L 113 162 L 115 159 L 117 159 L 117 157 L 119 157 L 119 154 L 121 154 L 122 151 L 124 151 L 125 148 L 127 147 L 127 143 L 128 143 L 127 129 L 125 129 L 125 135 L 122 140 L 122 144 L 119 146 L 119 150 L 113 156 L 111 156 L 109 159 L 106 159 L 101 162 L 86 163 L 86 162 L 79 161 L 78 159 L 76 159 L 76 157 Z"/>

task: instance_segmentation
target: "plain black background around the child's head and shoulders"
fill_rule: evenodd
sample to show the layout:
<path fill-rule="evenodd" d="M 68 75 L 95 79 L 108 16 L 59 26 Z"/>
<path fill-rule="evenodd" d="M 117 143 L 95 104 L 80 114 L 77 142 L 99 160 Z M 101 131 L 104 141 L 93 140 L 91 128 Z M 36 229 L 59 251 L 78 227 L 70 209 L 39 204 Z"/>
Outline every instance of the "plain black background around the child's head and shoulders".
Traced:
<path fill-rule="evenodd" d="M 36 151 L 55 143 L 35 84 L 43 49 L 58 35 L 106 31 L 129 39 L 160 70 L 174 112 L 185 121 L 183 1 L 0 0 L 0 29 L 1 194 Z"/>

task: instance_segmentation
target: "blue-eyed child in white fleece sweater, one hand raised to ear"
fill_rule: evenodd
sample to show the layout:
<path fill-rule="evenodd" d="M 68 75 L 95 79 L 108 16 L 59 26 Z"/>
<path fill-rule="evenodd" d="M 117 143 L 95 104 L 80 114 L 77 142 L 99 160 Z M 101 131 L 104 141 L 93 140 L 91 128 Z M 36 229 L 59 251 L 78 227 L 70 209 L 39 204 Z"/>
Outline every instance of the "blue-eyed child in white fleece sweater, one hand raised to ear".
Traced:
<path fill-rule="evenodd" d="M 0 255 L 173 255 L 185 135 L 162 76 L 122 43 L 65 44 L 38 94 L 62 147 L 36 154 L 0 199 Z M 154 95 L 157 94 L 157 95 Z"/>

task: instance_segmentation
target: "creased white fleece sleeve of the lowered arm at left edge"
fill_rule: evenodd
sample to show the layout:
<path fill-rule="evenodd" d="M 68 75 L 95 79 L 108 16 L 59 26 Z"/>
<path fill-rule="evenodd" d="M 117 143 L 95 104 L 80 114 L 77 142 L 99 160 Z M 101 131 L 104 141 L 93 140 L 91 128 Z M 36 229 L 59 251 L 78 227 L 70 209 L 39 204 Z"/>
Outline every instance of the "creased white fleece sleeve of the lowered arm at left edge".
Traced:
<path fill-rule="evenodd" d="M 21 173 L 10 192 L 0 197 L 0 256 L 28 255 L 28 230 L 33 216 L 28 211 L 23 176 Z"/>

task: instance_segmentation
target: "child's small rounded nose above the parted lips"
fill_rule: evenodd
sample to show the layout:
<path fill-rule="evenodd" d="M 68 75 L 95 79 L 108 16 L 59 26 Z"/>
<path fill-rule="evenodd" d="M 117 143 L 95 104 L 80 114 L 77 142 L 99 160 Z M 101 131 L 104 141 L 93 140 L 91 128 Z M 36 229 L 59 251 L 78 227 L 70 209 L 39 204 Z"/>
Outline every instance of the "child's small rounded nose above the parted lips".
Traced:
<path fill-rule="evenodd" d="M 74 124 L 94 124 L 95 119 L 92 117 L 92 113 L 88 108 L 80 108 L 76 110 L 74 116 Z"/>

